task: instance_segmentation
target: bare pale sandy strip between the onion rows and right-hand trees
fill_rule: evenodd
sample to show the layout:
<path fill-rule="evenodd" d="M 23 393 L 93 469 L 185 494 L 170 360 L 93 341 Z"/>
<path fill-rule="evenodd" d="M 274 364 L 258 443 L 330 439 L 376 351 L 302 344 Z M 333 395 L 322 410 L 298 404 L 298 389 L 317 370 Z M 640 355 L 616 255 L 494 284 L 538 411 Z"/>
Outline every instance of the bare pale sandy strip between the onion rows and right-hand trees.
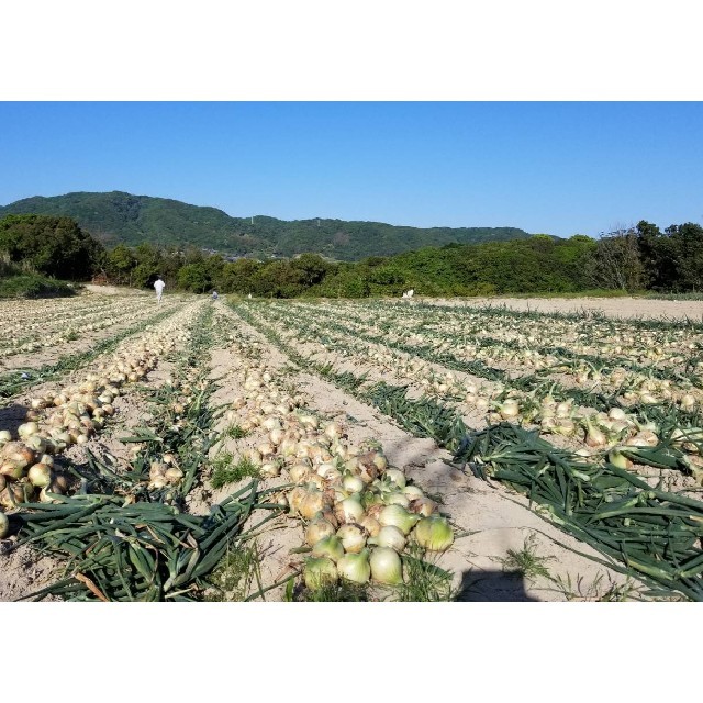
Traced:
<path fill-rule="evenodd" d="M 609 317 L 703 320 L 703 301 L 649 300 L 646 298 L 415 298 L 431 305 L 466 305 L 481 308 L 503 305 L 512 310 L 537 312 L 599 311 Z M 403 304 L 413 304 L 403 301 Z"/>

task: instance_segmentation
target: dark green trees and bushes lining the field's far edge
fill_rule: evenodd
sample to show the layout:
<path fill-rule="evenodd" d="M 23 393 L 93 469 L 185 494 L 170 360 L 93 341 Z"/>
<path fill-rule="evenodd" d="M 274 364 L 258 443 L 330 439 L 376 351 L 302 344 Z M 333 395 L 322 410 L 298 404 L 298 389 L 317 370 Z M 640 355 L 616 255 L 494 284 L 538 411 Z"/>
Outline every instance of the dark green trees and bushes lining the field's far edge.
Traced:
<path fill-rule="evenodd" d="M 639 292 L 703 289 L 703 227 L 651 223 L 622 227 L 600 239 L 574 235 L 482 244 L 447 244 L 360 261 L 316 254 L 287 259 L 225 260 L 203 250 L 123 244 L 107 249 L 69 217 L 10 215 L 0 220 L 0 276 L 20 266 L 58 279 L 100 276 L 119 286 L 148 288 L 161 276 L 170 290 L 365 298 L 570 293 L 594 288 Z M 4 271 L 4 272 L 3 272 Z"/>

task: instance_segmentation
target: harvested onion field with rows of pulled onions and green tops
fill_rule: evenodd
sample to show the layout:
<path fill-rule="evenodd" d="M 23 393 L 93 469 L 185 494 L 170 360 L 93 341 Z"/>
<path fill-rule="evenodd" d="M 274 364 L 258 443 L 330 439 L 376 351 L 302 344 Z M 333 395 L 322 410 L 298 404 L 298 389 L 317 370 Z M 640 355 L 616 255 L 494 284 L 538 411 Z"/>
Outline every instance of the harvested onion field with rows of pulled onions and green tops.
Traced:
<path fill-rule="evenodd" d="M 0 303 L 0 600 L 703 600 L 701 316 L 465 302 Z"/>

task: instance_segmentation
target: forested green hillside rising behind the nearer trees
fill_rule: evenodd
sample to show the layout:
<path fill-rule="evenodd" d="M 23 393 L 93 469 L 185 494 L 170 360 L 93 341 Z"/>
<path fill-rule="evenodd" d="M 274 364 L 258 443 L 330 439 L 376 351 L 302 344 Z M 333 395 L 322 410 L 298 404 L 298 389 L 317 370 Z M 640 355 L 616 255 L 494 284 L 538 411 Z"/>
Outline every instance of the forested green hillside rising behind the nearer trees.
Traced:
<path fill-rule="evenodd" d="M 314 252 L 346 261 L 426 246 L 531 236 L 516 227 L 419 228 L 324 219 L 288 222 L 264 215 L 255 216 L 252 224 L 250 217 L 232 217 L 216 208 L 120 191 L 26 198 L 0 207 L 0 219 L 9 214 L 68 215 L 108 246 L 149 242 L 158 246 L 190 244 L 232 255 L 293 256 Z"/>

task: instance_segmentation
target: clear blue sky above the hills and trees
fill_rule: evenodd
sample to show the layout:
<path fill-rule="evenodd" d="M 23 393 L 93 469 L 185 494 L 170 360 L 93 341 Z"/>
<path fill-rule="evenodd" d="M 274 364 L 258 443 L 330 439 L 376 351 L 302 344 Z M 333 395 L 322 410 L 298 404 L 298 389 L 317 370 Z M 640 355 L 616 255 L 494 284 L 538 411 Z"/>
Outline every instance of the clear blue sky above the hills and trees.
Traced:
<path fill-rule="evenodd" d="M 703 222 L 700 102 L 1 102 L 0 163 L 0 204 L 124 190 L 559 236 Z"/>

